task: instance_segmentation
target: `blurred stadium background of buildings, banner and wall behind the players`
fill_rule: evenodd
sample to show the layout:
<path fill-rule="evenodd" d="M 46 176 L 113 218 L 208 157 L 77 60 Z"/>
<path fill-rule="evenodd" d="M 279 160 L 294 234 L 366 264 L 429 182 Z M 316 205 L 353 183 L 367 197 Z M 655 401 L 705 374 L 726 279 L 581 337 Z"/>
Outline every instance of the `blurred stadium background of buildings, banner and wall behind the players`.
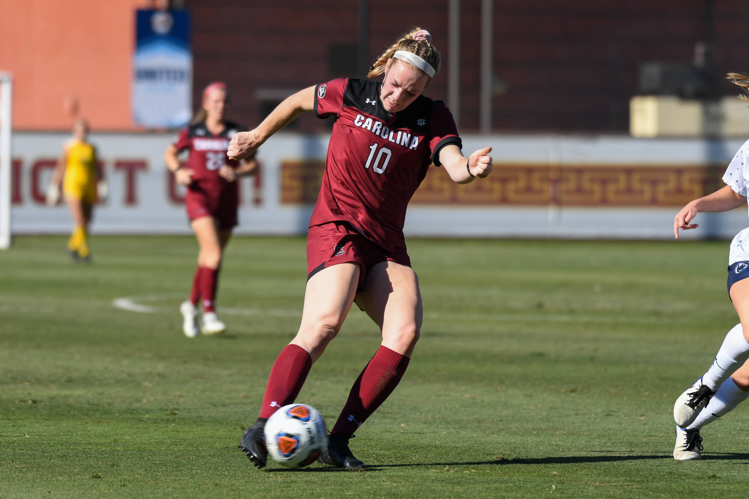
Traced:
<path fill-rule="evenodd" d="M 112 196 L 94 234 L 187 233 L 162 155 L 208 82 L 254 126 L 294 91 L 362 76 L 412 25 L 428 28 L 466 149 L 494 174 L 456 186 L 433 169 L 407 235 L 669 238 L 675 208 L 720 185 L 749 136 L 721 76 L 746 70 L 741 1 L 3 1 L 0 70 L 13 77 L 14 234 L 67 232 L 44 191 L 76 116 L 88 118 Z M 165 10 L 166 9 L 166 10 Z M 139 13 L 136 15 L 136 11 Z M 238 234 L 303 234 L 331 123 L 304 115 L 244 179 Z M 0 175 L 1 178 L 1 175 Z M 740 212 L 740 213 L 739 213 Z M 688 237 L 733 236 L 744 210 Z"/>

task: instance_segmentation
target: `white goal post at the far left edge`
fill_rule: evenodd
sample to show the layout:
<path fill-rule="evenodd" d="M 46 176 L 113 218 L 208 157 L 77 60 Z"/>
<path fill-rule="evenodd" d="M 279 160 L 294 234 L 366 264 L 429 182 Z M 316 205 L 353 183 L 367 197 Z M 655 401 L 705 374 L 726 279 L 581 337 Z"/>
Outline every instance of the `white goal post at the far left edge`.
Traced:
<path fill-rule="evenodd" d="M 13 75 L 0 72 L 0 249 L 10 248 Z"/>

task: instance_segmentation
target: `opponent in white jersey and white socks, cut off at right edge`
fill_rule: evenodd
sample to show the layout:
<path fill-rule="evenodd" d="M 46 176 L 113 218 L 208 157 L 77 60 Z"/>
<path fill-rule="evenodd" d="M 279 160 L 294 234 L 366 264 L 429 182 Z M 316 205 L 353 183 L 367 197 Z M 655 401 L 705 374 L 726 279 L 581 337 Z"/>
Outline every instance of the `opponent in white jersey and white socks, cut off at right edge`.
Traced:
<path fill-rule="evenodd" d="M 728 79 L 749 93 L 749 76 L 729 73 Z M 749 98 L 742 95 L 743 100 Z M 739 208 L 749 196 L 749 141 L 731 160 L 723 175 L 726 186 L 690 202 L 673 222 L 673 232 L 697 229 L 691 223 L 700 211 L 728 211 Z M 710 369 L 689 387 L 673 407 L 676 422 L 674 459 L 700 459 L 703 449 L 700 429 L 736 408 L 749 396 L 749 228 L 731 241 L 728 255 L 728 294 L 739 314 L 739 324 L 731 329 Z"/>

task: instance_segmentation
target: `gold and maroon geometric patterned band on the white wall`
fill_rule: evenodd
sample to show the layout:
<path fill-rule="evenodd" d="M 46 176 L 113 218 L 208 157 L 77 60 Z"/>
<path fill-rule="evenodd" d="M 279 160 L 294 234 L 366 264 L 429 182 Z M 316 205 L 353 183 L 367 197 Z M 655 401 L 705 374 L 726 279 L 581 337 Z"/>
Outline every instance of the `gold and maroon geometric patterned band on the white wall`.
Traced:
<path fill-rule="evenodd" d="M 284 162 L 281 202 L 314 204 L 325 164 Z M 488 178 L 455 184 L 430 168 L 411 199 L 416 205 L 682 206 L 723 186 L 724 166 L 494 163 Z"/>

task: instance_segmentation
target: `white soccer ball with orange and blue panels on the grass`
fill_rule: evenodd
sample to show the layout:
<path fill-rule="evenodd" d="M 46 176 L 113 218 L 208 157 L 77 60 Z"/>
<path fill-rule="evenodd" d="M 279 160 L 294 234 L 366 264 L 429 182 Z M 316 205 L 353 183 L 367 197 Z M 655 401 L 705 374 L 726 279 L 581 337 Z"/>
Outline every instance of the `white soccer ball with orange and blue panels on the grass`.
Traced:
<path fill-rule="evenodd" d="M 287 468 L 302 468 L 327 449 L 322 414 L 312 405 L 284 405 L 265 423 L 265 447 L 273 461 Z"/>

